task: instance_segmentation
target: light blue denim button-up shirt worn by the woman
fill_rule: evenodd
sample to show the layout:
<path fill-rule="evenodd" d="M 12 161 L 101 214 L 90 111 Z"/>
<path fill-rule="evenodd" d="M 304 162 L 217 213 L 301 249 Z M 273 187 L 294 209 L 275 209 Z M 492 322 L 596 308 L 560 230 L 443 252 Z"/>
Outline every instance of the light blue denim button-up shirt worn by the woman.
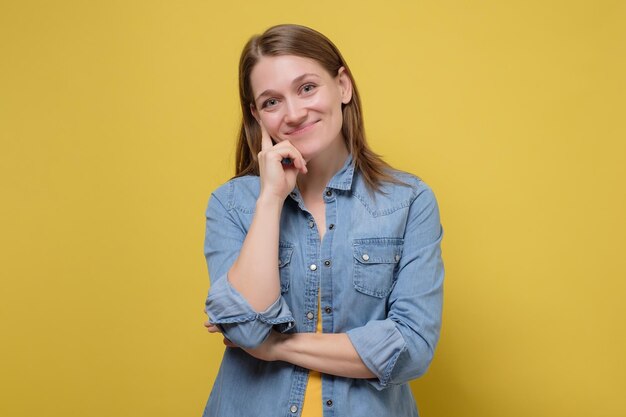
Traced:
<path fill-rule="evenodd" d="M 383 183 L 370 194 L 348 157 L 324 191 L 327 231 L 320 234 L 298 189 L 281 213 L 281 296 L 257 312 L 227 280 L 252 223 L 259 177 L 235 178 L 213 192 L 204 252 L 211 288 L 206 313 L 242 347 L 261 344 L 272 329 L 315 332 L 318 299 L 324 333 L 347 333 L 376 376 L 322 374 L 325 417 L 417 416 L 408 382 L 422 375 L 441 326 L 442 228 L 437 202 L 419 178 Z M 294 417 L 302 409 L 308 370 L 266 362 L 226 348 L 204 416 Z"/>

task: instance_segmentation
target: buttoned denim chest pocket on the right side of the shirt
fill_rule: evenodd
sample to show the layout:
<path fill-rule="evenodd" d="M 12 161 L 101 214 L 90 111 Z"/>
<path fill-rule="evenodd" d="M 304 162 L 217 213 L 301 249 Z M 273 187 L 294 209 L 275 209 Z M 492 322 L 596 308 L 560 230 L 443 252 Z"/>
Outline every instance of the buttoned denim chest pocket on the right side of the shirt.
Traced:
<path fill-rule="evenodd" d="M 402 258 L 402 238 L 354 239 L 354 288 L 373 297 L 389 295 Z"/>

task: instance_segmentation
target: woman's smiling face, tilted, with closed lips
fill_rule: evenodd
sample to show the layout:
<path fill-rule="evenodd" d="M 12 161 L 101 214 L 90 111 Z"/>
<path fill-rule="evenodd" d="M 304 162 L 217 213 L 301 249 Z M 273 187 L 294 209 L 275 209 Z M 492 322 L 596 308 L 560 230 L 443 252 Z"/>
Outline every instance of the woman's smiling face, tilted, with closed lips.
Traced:
<path fill-rule="evenodd" d="M 341 105 L 350 102 L 352 83 L 343 67 L 331 76 L 313 59 L 262 57 L 250 83 L 252 114 L 275 142 L 289 140 L 307 161 L 345 147 Z"/>

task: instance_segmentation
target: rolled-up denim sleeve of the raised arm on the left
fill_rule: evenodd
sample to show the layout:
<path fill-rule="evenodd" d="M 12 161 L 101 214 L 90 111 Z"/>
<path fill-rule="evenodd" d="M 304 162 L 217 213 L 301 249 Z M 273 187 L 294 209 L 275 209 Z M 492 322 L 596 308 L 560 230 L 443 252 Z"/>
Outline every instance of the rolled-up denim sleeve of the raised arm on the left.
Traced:
<path fill-rule="evenodd" d="M 228 203 L 232 193 L 232 183 L 227 183 L 211 195 L 206 210 L 204 254 L 211 287 L 205 312 L 230 341 L 243 348 L 254 348 L 265 341 L 272 328 L 286 332 L 294 327 L 295 320 L 282 296 L 265 311 L 257 312 L 228 281 L 228 271 L 246 237 L 237 216 L 227 208 L 228 204 L 222 203 Z"/>

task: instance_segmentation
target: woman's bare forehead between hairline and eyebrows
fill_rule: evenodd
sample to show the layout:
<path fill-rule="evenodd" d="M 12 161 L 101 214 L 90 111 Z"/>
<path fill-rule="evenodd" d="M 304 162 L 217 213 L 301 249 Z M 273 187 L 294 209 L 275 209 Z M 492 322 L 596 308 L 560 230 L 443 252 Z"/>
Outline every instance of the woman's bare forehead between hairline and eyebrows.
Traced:
<path fill-rule="evenodd" d="M 324 67 L 314 59 L 295 55 L 264 56 L 250 73 L 250 85 L 256 95 L 267 89 L 288 88 L 295 78 L 303 74 L 330 78 Z"/>

